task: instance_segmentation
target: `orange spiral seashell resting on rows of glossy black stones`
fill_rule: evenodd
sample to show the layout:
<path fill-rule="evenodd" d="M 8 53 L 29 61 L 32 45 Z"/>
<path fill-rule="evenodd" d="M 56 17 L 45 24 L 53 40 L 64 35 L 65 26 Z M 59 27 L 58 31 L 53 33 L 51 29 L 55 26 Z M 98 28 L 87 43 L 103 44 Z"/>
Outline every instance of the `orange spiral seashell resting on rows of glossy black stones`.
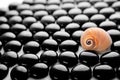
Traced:
<path fill-rule="evenodd" d="M 103 53 L 110 50 L 112 39 L 110 35 L 101 28 L 88 28 L 81 35 L 80 43 L 85 50 Z"/>

